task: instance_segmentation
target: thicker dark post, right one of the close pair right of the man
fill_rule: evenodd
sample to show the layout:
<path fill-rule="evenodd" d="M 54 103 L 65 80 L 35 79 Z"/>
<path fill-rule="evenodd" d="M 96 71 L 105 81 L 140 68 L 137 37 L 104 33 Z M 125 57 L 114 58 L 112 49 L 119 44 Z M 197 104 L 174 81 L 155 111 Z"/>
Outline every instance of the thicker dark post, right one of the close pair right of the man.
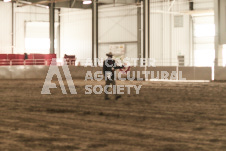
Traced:
<path fill-rule="evenodd" d="M 143 0 L 143 58 L 150 57 L 150 3 L 149 0 Z"/>

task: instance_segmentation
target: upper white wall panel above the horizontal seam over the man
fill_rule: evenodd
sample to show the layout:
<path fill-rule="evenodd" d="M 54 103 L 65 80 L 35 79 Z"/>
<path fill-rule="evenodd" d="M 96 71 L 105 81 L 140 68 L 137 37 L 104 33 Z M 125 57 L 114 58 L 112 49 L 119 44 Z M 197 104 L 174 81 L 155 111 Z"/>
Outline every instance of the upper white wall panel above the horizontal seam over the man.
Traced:
<path fill-rule="evenodd" d="M 137 40 L 137 7 L 99 8 L 99 42 Z"/>

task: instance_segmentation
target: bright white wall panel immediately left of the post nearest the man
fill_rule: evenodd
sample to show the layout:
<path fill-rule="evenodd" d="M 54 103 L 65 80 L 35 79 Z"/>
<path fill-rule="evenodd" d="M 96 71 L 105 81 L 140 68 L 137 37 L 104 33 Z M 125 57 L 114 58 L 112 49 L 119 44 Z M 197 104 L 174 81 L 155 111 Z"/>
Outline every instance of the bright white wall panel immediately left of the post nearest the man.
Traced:
<path fill-rule="evenodd" d="M 76 55 L 81 63 L 92 57 L 92 11 L 61 10 L 61 57 Z"/>

